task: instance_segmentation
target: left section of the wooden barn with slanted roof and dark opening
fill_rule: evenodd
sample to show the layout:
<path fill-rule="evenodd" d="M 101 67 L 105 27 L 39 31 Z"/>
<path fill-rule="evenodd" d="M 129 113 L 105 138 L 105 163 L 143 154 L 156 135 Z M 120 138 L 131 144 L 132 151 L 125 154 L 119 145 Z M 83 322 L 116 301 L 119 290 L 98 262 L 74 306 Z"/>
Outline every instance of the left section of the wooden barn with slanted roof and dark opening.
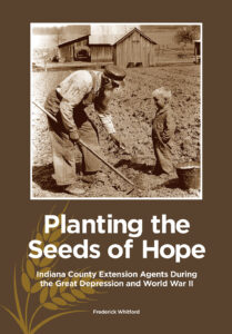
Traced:
<path fill-rule="evenodd" d="M 59 58 L 61 61 L 74 61 L 78 58 L 78 52 L 80 50 L 85 50 L 87 56 L 89 56 L 89 35 L 81 36 L 73 40 L 64 41 L 58 46 Z"/>

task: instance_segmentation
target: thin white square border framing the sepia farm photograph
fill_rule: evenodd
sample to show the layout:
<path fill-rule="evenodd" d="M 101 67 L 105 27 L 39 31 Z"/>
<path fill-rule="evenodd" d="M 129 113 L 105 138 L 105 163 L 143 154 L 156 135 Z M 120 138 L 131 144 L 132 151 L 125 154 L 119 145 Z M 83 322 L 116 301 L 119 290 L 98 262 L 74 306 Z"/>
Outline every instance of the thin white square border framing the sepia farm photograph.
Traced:
<path fill-rule="evenodd" d="M 32 196 L 32 125 L 31 125 L 31 92 L 32 92 L 32 27 L 59 26 L 115 26 L 115 24 L 153 24 L 153 26 L 199 26 L 201 31 L 201 63 L 200 63 L 200 170 L 201 189 L 198 197 L 33 197 Z M 202 22 L 30 22 L 30 200 L 203 200 L 203 23 Z"/>

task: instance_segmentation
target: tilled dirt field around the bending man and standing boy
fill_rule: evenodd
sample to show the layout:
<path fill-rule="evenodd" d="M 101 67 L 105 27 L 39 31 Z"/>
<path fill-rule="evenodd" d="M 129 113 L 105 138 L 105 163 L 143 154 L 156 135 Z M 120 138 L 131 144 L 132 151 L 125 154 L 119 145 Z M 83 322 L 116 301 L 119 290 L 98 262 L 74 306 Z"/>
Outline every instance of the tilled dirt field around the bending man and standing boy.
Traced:
<path fill-rule="evenodd" d="M 43 105 L 48 92 L 70 71 L 34 72 L 32 75 L 32 99 Z M 155 158 L 151 140 L 151 122 L 154 106 L 151 94 L 155 88 L 171 89 L 176 130 L 173 143 L 173 161 L 200 160 L 200 68 L 178 65 L 157 68 L 132 68 L 127 70 L 127 85 L 115 94 L 110 104 L 114 126 L 127 150 L 119 151 L 102 128 L 97 112 L 89 106 L 87 112 L 99 129 L 102 156 L 138 187 L 131 186 L 102 166 L 97 181 L 85 188 L 84 197 L 195 197 L 199 191 L 182 190 L 176 175 L 152 175 Z M 61 193 L 51 177 L 53 173 L 51 146 L 46 116 L 32 107 L 32 191 L 33 197 L 73 197 Z M 77 153 L 77 161 L 81 156 Z M 129 194 L 130 193 L 130 194 Z"/>

